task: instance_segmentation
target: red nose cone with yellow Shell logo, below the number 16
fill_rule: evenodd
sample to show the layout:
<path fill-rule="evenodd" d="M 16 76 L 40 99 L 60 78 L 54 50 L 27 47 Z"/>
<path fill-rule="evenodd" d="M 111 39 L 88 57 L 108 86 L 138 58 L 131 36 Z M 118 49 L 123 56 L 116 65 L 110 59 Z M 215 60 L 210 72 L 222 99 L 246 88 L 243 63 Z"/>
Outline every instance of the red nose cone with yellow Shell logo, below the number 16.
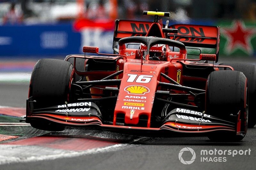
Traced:
<path fill-rule="evenodd" d="M 157 85 L 156 78 L 156 76 L 150 78 L 150 83 L 135 82 L 136 84 L 134 84 L 133 82 L 122 81 L 114 117 L 116 114 L 122 113 L 125 115 L 125 124 L 136 125 L 140 121 L 140 115 L 147 115 L 148 127 L 150 127 L 150 117 Z"/>

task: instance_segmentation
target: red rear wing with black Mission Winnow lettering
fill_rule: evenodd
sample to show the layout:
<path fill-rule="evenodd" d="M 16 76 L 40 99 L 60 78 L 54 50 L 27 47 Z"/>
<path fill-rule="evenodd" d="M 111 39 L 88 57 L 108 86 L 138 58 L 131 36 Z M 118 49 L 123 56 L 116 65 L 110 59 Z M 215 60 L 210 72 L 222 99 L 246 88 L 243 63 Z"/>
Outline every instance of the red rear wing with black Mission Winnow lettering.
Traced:
<path fill-rule="evenodd" d="M 152 22 L 148 21 L 115 21 L 115 31 L 113 39 L 114 54 L 118 54 L 118 41 L 124 37 L 145 36 Z M 163 24 L 163 27 L 165 25 Z M 189 24 L 176 24 L 168 28 L 178 29 L 178 33 L 168 33 L 166 38 L 180 41 L 188 47 L 215 48 L 216 62 L 218 62 L 220 46 L 220 27 L 201 26 Z"/>

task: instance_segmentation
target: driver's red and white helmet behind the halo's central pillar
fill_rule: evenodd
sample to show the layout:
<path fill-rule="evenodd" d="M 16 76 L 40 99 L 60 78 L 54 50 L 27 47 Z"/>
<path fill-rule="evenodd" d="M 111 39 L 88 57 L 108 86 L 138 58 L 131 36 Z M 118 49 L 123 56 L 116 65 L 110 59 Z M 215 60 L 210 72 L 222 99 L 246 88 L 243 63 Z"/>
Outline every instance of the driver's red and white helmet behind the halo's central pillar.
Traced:
<path fill-rule="evenodd" d="M 146 58 L 147 46 L 140 43 L 139 54 Z M 165 44 L 156 44 L 149 49 L 149 60 L 164 60 L 166 54 L 166 45 Z"/>

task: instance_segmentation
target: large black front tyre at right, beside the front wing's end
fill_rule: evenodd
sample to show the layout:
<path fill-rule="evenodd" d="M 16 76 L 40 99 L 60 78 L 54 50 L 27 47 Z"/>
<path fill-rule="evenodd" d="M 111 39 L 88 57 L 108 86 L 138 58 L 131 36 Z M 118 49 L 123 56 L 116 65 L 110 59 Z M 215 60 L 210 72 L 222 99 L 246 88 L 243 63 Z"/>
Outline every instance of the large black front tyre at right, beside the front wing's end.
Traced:
<path fill-rule="evenodd" d="M 241 132 L 212 133 L 208 136 L 210 140 L 240 141 L 244 138 L 248 120 L 247 91 L 247 79 L 240 71 L 213 71 L 209 75 L 205 93 L 206 113 L 238 124 L 237 113 L 240 111 L 241 119 L 241 124 L 238 124 Z"/>

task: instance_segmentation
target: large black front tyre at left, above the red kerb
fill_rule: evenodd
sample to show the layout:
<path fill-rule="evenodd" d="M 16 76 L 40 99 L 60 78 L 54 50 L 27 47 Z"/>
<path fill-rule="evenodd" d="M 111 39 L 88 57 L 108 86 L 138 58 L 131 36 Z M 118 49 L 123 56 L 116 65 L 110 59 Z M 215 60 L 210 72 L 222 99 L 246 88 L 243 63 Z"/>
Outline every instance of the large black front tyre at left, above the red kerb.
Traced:
<path fill-rule="evenodd" d="M 70 88 L 74 78 L 71 63 L 57 59 L 39 60 L 32 72 L 29 97 L 33 96 L 34 109 L 65 104 L 71 98 Z M 65 127 L 53 122 L 31 120 L 32 127 L 41 130 L 61 131 Z"/>

